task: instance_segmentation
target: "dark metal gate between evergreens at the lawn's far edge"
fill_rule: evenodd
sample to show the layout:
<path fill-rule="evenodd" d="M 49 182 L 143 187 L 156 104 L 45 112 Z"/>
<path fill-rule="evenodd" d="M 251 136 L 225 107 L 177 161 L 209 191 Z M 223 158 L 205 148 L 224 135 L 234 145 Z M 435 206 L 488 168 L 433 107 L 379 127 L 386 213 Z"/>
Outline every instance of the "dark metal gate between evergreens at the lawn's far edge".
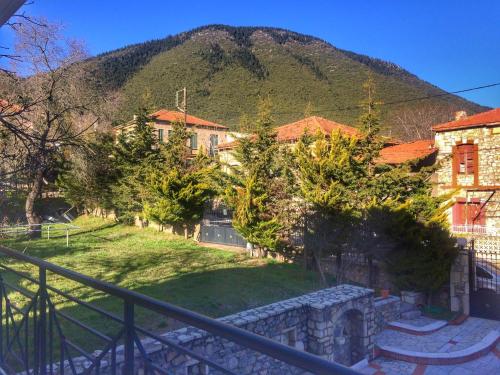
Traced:
<path fill-rule="evenodd" d="M 246 247 L 247 241 L 232 226 L 232 211 L 222 201 L 205 205 L 200 241 L 221 245 Z"/>

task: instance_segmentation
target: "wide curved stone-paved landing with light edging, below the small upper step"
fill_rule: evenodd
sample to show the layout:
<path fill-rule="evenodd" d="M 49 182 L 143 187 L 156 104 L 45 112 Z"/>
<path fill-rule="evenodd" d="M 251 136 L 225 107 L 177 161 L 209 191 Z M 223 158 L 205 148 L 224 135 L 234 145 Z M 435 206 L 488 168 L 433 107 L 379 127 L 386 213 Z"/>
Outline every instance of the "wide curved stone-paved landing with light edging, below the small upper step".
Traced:
<path fill-rule="evenodd" d="M 493 330 L 500 331 L 499 321 L 468 318 L 460 325 L 449 325 L 424 336 L 386 329 L 376 336 L 375 343 L 415 352 L 449 353 L 477 344 Z"/>

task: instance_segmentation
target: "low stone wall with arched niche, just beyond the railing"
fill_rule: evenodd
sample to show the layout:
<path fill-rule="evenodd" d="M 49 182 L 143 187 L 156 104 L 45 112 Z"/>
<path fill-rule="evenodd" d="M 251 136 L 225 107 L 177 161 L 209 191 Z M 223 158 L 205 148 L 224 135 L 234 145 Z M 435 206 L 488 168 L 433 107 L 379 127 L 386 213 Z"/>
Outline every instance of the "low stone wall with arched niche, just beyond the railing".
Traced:
<path fill-rule="evenodd" d="M 376 331 L 373 306 L 373 290 L 340 285 L 219 320 L 350 366 L 365 358 L 373 358 Z M 162 337 L 237 374 L 305 373 L 197 328 L 181 328 L 162 334 Z M 173 347 L 166 347 L 151 338 L 141 342 L 152 362 L 169 374 L 208 373 L 205 364 Z M 138 351 L 136 354 L 140 372 L 142 360 Z M 123 360 L 123 347 L 117 348 L 117 358 Z M 82 358 L 82 361 L 85 359 Z M 107 373 L 105 366 L 101 367 L 101 373 Z M 209 373 L 215 375 L 221 372 L 210 368 Z"/>

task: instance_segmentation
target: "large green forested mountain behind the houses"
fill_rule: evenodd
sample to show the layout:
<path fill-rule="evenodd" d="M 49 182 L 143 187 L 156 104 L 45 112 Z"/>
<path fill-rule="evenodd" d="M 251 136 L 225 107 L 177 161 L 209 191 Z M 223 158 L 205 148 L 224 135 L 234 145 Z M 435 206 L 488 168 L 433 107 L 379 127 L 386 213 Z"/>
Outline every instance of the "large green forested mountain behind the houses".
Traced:
<path fill-rule="evenodd" d="M 184 86 L 190 113 L 233 129 L 242 115 L 254 114 L 258 97 L 267 95 L 277 125 L 304 117 L 305 111 L 356 125 L 356 106 L 363 100 L 362 85 L 370 72 L 382 103 L 443 93 L 393 63 L 270 27 L 204 26 L 111 51 L 87 63 L 105 90 L 120 93 L 118 120 L 130 119 L 139 107 L 173 108 L 174 93 Z M 405 116 L 394 115 L 426 106 L 433 110 L 424 112 L 438 113 L 439 121 L 459 109 L 485 109 L 457 96 L 384 105 L 384 124 L 400 135 L 396 118 Z"/>

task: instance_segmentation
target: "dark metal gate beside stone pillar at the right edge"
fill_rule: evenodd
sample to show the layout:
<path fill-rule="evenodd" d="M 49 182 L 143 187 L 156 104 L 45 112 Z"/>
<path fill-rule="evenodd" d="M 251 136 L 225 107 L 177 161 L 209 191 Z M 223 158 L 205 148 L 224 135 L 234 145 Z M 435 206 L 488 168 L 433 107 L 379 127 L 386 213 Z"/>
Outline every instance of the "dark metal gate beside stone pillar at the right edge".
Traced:
<path fill-rule="evenodd" d="M 470 315 L 500 320 L 500 249 L 469 247 Z"/>

